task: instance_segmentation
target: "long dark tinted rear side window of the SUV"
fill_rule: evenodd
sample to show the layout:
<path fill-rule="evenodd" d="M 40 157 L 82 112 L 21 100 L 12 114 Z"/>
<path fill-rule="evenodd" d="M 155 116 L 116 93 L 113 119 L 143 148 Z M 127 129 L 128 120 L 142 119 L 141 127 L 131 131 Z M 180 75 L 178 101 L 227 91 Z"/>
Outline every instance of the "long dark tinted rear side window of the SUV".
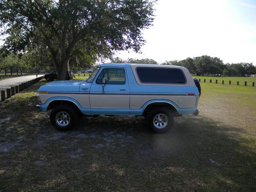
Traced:
<path fill-rule="evenodd" d="M 142 83 L 186 83 L 186 78 L 180 69 L 138 67 L 136 71 Z"/>

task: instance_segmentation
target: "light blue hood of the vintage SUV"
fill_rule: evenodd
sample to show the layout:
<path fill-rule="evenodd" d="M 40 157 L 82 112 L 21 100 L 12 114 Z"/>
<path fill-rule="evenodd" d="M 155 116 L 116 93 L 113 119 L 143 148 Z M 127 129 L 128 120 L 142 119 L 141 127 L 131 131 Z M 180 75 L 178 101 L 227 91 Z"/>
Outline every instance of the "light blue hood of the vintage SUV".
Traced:
<path fill-rule="evenodd" d="M 38 91 L 52 91 L 52 92 L 77 92 L 79 91 L 80 84 L 83 81 L 52 81 L 44 86 L 41 86 Z"/>

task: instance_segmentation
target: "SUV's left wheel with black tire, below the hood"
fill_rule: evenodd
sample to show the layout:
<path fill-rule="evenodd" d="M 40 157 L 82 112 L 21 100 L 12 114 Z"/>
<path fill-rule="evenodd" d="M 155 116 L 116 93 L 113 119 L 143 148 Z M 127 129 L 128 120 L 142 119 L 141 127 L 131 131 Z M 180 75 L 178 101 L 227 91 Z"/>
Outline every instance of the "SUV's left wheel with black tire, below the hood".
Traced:
<path fill-rule="evenodd" d="M 68 131 L 77 121 L 76 110 L 67 104 L 56 106 L 50 114 L 51 124 L 59 131 Z"/>

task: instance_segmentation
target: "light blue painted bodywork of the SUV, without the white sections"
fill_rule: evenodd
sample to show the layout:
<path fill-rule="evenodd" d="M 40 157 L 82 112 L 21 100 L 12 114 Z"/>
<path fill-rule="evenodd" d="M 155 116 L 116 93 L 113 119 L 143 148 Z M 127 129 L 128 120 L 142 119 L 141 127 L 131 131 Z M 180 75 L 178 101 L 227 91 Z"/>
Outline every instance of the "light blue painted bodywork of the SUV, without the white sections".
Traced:
<path fill-rule="evenodd" d="M 158 85 L 158 86 L 152 86 L 150 84 L 145 85 L 139 85 L 136 82 L 135 76 L 133 74 L 132 68 L 130 64 L 103 64 L 100 65 L 100 70 L 95 76 L 92 83 L 88 83 L 86 81 L 53 81 L 50 83 L 45 84 L 45 86 L 41 86 L 38 90 L 38 92 L 45 91 L 45 92 L 78 92 L 78 93 L 96 93 L 101 94 L 102 93 L 102 85 L 97 84 L 96 80 L 98 76 L 100 75 L 100 72 L 108 68 L 123 68 L 125 69 L 125 84 L 119 84 L 119 85 L 112 85 L 107 84 L 104 87 L 105 94 L 114 94 L 114 93 L 123 93 L 123 94 L 197 94 L 197 100 L 196 100 L 196 106 L 198 104 L 199 99 L 199 92 L 196 86 L 165 86 L 165 85 Z M 184 89 L 185 88 L 185 89 Z M 122 89 L 122 91 L 120 90 Z M 72 98 L 72 97 L 62 97 L 62 96 L 56 96 L 49 98 L 45 103 L 42 103 L 40 105 L 40 111 L 46 112 L 48 105 L 50 102 L 54 100 L 66 100 L 71 101 L 78 108 L 84 115 L 142 115 L 146 106 L 152 103 L 159 103 L 159 102 L 165 102 L 170 105 L 173 105 L 174 108 L 180 113 L 180 114 L 191 114 L 194 113 L 197 108 L 179 108 L 177 104 L 175 104 L 173 101 L 167 100 L 167 99 L 152 99 L 147 102 L 145 102 L 140 109 L 95 109 L 95 108 L 83 108 L 80 103 Z"/>

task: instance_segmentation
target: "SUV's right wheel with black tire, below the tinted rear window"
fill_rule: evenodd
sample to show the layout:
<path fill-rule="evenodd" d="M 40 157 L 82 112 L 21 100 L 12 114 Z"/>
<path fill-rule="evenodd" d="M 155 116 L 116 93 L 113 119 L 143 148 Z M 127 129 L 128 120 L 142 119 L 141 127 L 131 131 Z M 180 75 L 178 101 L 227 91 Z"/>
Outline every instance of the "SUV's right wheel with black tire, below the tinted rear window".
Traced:
<path fill-rule="evenodd" d="M 168 108 L 157 107 L 147 114 L 146 121 L 155 133 L 165 133 L 173 127 L 174 117 Z"/>

